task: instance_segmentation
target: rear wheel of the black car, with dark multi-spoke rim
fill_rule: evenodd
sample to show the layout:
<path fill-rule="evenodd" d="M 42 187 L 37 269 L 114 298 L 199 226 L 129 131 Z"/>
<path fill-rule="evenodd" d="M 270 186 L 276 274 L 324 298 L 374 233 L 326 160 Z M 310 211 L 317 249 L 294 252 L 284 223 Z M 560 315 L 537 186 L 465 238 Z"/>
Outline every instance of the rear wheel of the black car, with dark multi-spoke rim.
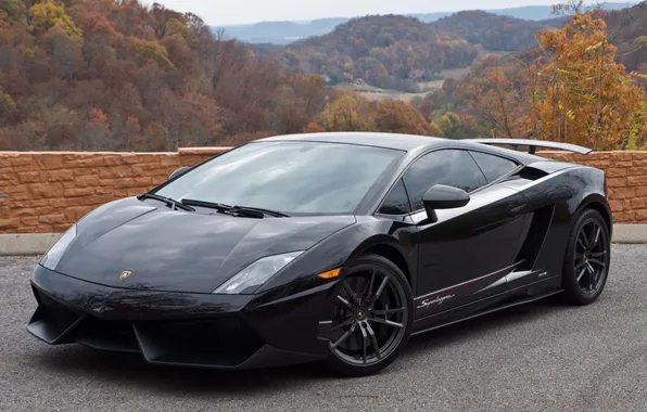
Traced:
<path fill-rule="evenodd" d="M 602 293 L 609 276 L 611 242 L 607 222 L 594 209 L 576 218 L 563 261 L 563 300 L 569 305 L 591 305 Z"/>

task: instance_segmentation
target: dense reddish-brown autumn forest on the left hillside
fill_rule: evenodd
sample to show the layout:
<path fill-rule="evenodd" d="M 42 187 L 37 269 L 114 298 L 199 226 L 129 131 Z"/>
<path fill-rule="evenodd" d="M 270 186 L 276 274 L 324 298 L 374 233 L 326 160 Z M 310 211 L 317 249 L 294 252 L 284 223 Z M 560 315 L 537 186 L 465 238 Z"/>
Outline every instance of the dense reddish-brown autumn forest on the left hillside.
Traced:
<path fill-rule="evenodd" d="M 194 14 L 137 0 L 28 3 L 28 16 L 0 13 L 0 150 L 219 145 L 301 131 L 326 104 L 321 76 L 286 73 Z"/>

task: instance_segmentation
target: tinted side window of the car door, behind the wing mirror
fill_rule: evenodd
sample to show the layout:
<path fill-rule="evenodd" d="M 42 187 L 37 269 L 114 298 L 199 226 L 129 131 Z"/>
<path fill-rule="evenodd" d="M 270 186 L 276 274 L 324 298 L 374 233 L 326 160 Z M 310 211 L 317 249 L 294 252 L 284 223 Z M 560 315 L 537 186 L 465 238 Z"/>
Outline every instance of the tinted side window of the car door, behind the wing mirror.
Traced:
<path fill-rule="evenodd" d="M 439 151 L 416 160 L 405 172 L 414 210 L 423 208 L 422 196 L 434 184 L 473 192 L 487 184 L 477 163 L 465 151 Z"/>

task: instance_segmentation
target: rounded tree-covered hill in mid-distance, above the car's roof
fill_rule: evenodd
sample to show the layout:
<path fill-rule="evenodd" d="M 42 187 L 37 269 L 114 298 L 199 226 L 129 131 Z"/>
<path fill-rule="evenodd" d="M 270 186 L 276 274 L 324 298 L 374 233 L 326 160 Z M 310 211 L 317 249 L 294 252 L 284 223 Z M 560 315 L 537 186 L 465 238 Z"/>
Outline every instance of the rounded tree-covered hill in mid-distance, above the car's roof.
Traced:
<path fill-rule="evenodd" d="M 325 75 L 332 85 L 368 83 L 383 89 L 418 91 L 443 68 L 469 66 L 479 48 L 461 37 L 415 17 L 379 15 L 353 18 L 332 33 L 284 47 L 255 47 L 283 66 Z"/>

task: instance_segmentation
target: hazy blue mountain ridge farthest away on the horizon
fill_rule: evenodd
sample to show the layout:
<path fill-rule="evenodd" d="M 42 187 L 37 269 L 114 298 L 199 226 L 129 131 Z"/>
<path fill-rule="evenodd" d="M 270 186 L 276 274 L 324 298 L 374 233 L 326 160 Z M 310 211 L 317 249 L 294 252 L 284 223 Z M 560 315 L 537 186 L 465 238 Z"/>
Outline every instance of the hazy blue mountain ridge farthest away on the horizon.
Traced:
<path fill-rule="evenodd" d="M 635 0 L 624 3 L 606 3 L 604 8 L 610 11 L 620 10 L 634 3 L 636 3 Z M 550 14 L 549 5 L 527 5 L 521 8 L 485 11 L 493 14 L 530 21 L 544 21 L 554 17 Z M 423 23 L 432 23 L 455 13 L 456 12 L 417 13 L 407 14 L 407 16 L 416 17 Z M 224 29 L 225 37 L 234 38 L 249 43 L 288 44 L 300 39 L 329 34 L 337 26 L 346 23 L 350 20 L 351 17 L 331 17 L 308 22 L 261 22 L 250 25 L 216 26 L 213 27 L 213 29 L 214 31 Z"/>

